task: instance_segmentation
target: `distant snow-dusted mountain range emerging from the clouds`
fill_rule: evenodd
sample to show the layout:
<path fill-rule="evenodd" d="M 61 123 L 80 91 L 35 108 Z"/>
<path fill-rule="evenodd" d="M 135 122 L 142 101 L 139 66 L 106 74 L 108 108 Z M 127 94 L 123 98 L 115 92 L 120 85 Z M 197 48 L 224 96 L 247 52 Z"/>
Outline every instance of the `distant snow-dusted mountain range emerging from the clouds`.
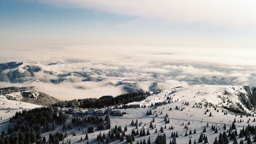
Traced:
<path fill-rule="evenodd" d="M 122 87 L 125 92 L 149 89 L 163 89 L 163 83 L 175 77 L 175 73 L 132 71 L 127 68 L 105 67 L 82 63 L 51 63 L 48 65 L 26 62 L 9 62 L 0 64 L 0 82 L 31 83 L 34 81 L 59 84 L 62 82 L 80 83 L 84 81 L 98 82 L 101 85 Z M 188 84 L 233 85 L 235 78 L 191 77 L 182 78 Z M 83 89 L 82 85 L 76 86 Z"/>

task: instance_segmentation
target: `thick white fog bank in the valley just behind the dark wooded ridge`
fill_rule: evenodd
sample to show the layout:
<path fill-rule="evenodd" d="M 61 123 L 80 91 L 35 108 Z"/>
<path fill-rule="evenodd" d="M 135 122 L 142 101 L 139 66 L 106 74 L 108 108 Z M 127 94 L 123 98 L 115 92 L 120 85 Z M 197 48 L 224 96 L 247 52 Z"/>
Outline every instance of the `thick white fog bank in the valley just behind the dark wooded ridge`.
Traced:
<path fill-rule="evenodd" d="M 97 82 L 80 82 L 70 83 L 63 82 L 60 84 L 32 82 L 32 83 L 6 83 L 0 82 L 0 87 L 8 86 L 35 86 L 37 91 L 44 92 L 50 96 L 53 96 L 59 100 L 72 100 L 83 98 L 99 98 L 103 95 L 117 96 L 124 91 L 122 86 L 104 85 Z M 81 86 L 84 89 L 78 89 Z"/>

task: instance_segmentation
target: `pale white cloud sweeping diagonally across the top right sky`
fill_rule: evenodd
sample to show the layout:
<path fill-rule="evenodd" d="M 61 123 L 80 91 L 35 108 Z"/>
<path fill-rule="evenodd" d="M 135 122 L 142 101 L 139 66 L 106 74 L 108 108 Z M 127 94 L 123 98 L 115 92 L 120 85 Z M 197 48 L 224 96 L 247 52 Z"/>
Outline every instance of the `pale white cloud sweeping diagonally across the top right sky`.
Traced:
<path fill-rule="evenodd" d="M 38 0 L 39 1 L 39 0 Z M 256 24 L 254 0 L 40 0 L 60 7 L 96 9 L 108 13 L 160 18 L 167 21 L 228 25 L 230 27 L 254 27 Z"/>

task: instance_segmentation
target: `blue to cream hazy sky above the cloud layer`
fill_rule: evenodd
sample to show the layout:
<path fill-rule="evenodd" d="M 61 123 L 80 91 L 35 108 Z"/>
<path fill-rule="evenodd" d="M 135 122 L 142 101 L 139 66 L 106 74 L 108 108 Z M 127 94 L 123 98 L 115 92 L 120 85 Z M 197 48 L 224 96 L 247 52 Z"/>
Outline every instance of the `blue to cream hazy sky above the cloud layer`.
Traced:
<path fill-rule="evenodd" d="M 0 41 L 255 48 L 254 0 L 3 0 Z"/>

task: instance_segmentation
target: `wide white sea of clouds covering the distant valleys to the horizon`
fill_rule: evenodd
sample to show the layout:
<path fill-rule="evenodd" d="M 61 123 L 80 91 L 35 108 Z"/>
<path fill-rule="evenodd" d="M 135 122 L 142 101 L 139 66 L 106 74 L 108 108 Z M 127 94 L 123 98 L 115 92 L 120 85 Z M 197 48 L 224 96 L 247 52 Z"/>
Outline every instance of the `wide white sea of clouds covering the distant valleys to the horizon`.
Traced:
<path fill-rule="evenodd" d="M 200 83 L 256 85 L 254 49 L 83 45 L 57 45 L 56 49 L 55 44 L 25 43 L 17 51 L 13 45 L 1 45 L 1 63 L 29 62 L 53 74 L 40 71 L 28 78 L 39 81 L 2 82 L 0 86 L 34 85 L 61 100 L 116 96 L 131 88 L 149 91 Z M 55 62 L 59 63 L 47 66 Z M 86 80 L 81 74 L 88 75 Z M 64 80 L 51 82 L 60 78 Z"/>

